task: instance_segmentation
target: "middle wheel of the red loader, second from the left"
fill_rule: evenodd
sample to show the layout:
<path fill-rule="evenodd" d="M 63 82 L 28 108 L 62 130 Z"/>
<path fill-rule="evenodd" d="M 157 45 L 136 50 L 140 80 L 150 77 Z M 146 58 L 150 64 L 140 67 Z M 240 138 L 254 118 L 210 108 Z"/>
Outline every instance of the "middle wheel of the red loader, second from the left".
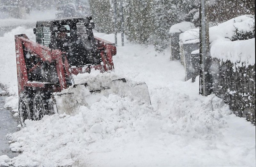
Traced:
<path fill-rule="evenodd" d="M 45 115 L 44 101 L 39 94 L 36 94 L 33 101 L 33 113 L 35 120 L 41 120 Z"/>

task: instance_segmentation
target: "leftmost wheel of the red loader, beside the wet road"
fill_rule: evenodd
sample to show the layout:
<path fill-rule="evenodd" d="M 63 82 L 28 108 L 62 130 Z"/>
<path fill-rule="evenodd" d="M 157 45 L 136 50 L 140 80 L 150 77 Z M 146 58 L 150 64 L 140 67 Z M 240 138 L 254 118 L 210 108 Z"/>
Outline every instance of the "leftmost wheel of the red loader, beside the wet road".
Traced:
<path fill-rule="evenodd" d="M 31 119 L 30 117 L 30 108 L 29 103 L 26 95 L 22 92 L 19 95 L 19 106 L 18 106 L 18 112 L 20 117 L 20 124 L 22 127 L 26 126 L 24 121 L 26 119 Z"/>

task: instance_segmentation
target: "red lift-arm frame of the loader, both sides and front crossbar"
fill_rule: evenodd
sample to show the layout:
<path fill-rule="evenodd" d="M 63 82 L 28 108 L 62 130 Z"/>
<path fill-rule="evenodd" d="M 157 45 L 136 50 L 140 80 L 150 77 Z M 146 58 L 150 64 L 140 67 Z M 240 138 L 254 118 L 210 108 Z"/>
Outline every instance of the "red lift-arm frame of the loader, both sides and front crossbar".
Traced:
<path fill-rule="evenodd" d="M 16 47 L 16 61 L 17 61 L 17 76 L 19 94 L 24 91 L 24 87 L 41 87 L 44 88 L 45 82 L 29 80 L 28 75 L 35 69 L 42 66 L 44 62 L 47 64 L 54 64 L 59 79 L 57 86 L 54 89 L 61 91 L 68 88 L 67 81 L 71 80 L 71 74 L 79 74 L 83 71 L 90 72 L 90 69 L 100 69 L 101 71 L 108 71 L 114 69 L 112 56 L 116 55 L 116 47 L 113 43 L 105 41 L 101 38 L 95 37 L 97 48 L 100 51 L 103 65 L 88 66 L 83 70 L 83 67 L 70 68 L 67 56 L 60 50 L 50 49 L 36 42 L 30 41 L 25 34 L 15 35 Z M 40 61 L 36 64 L 26 63 L 26 52 L 34 55 Z M 28 68 L 29 66 L 32 66 Z M 102 67 L 103 66 L 103 67 Z M 48 83 L 49 84 L 49 83 Z M 52 83 L 53 84 L 53 83 Z M 56 83 L 55 83 L 56 84 Z M 59 86 L 58 86 L 59 85 Z"/>

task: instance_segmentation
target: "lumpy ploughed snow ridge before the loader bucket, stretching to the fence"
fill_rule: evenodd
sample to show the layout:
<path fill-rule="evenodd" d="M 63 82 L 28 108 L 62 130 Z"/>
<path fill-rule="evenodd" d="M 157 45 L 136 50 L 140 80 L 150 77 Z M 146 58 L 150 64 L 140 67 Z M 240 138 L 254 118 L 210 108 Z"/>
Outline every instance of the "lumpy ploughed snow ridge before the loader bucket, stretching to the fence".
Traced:
<path fill-rule="evenodd" d="M 230 113 L 221 99 L 214 95 L 203 101 L 180 93 L 173 96 L 176 100 L 169 102 L 168 106 L 172 107 L 168 113 L 109 95 L 90 109 L 80 107 L 79 114 L 74 116 L 53 115 L 41 121 L 26 120 L 27 127 L 10 135 L 10 139 L 16 141 L 10 145 L 11 149 L 23 152 L 13 158 L 12 163 L 14 166 L 85 165 L 92 151 L 111 152 L 134 138 L 143 140 L 154 134 L 156 140 L 173 135 L 205 140 L 216 138 L 219 129 L 227 127 L 222 117 Z M 94 143 L 102 142 L 110 143 L 95 147 Z"/>

